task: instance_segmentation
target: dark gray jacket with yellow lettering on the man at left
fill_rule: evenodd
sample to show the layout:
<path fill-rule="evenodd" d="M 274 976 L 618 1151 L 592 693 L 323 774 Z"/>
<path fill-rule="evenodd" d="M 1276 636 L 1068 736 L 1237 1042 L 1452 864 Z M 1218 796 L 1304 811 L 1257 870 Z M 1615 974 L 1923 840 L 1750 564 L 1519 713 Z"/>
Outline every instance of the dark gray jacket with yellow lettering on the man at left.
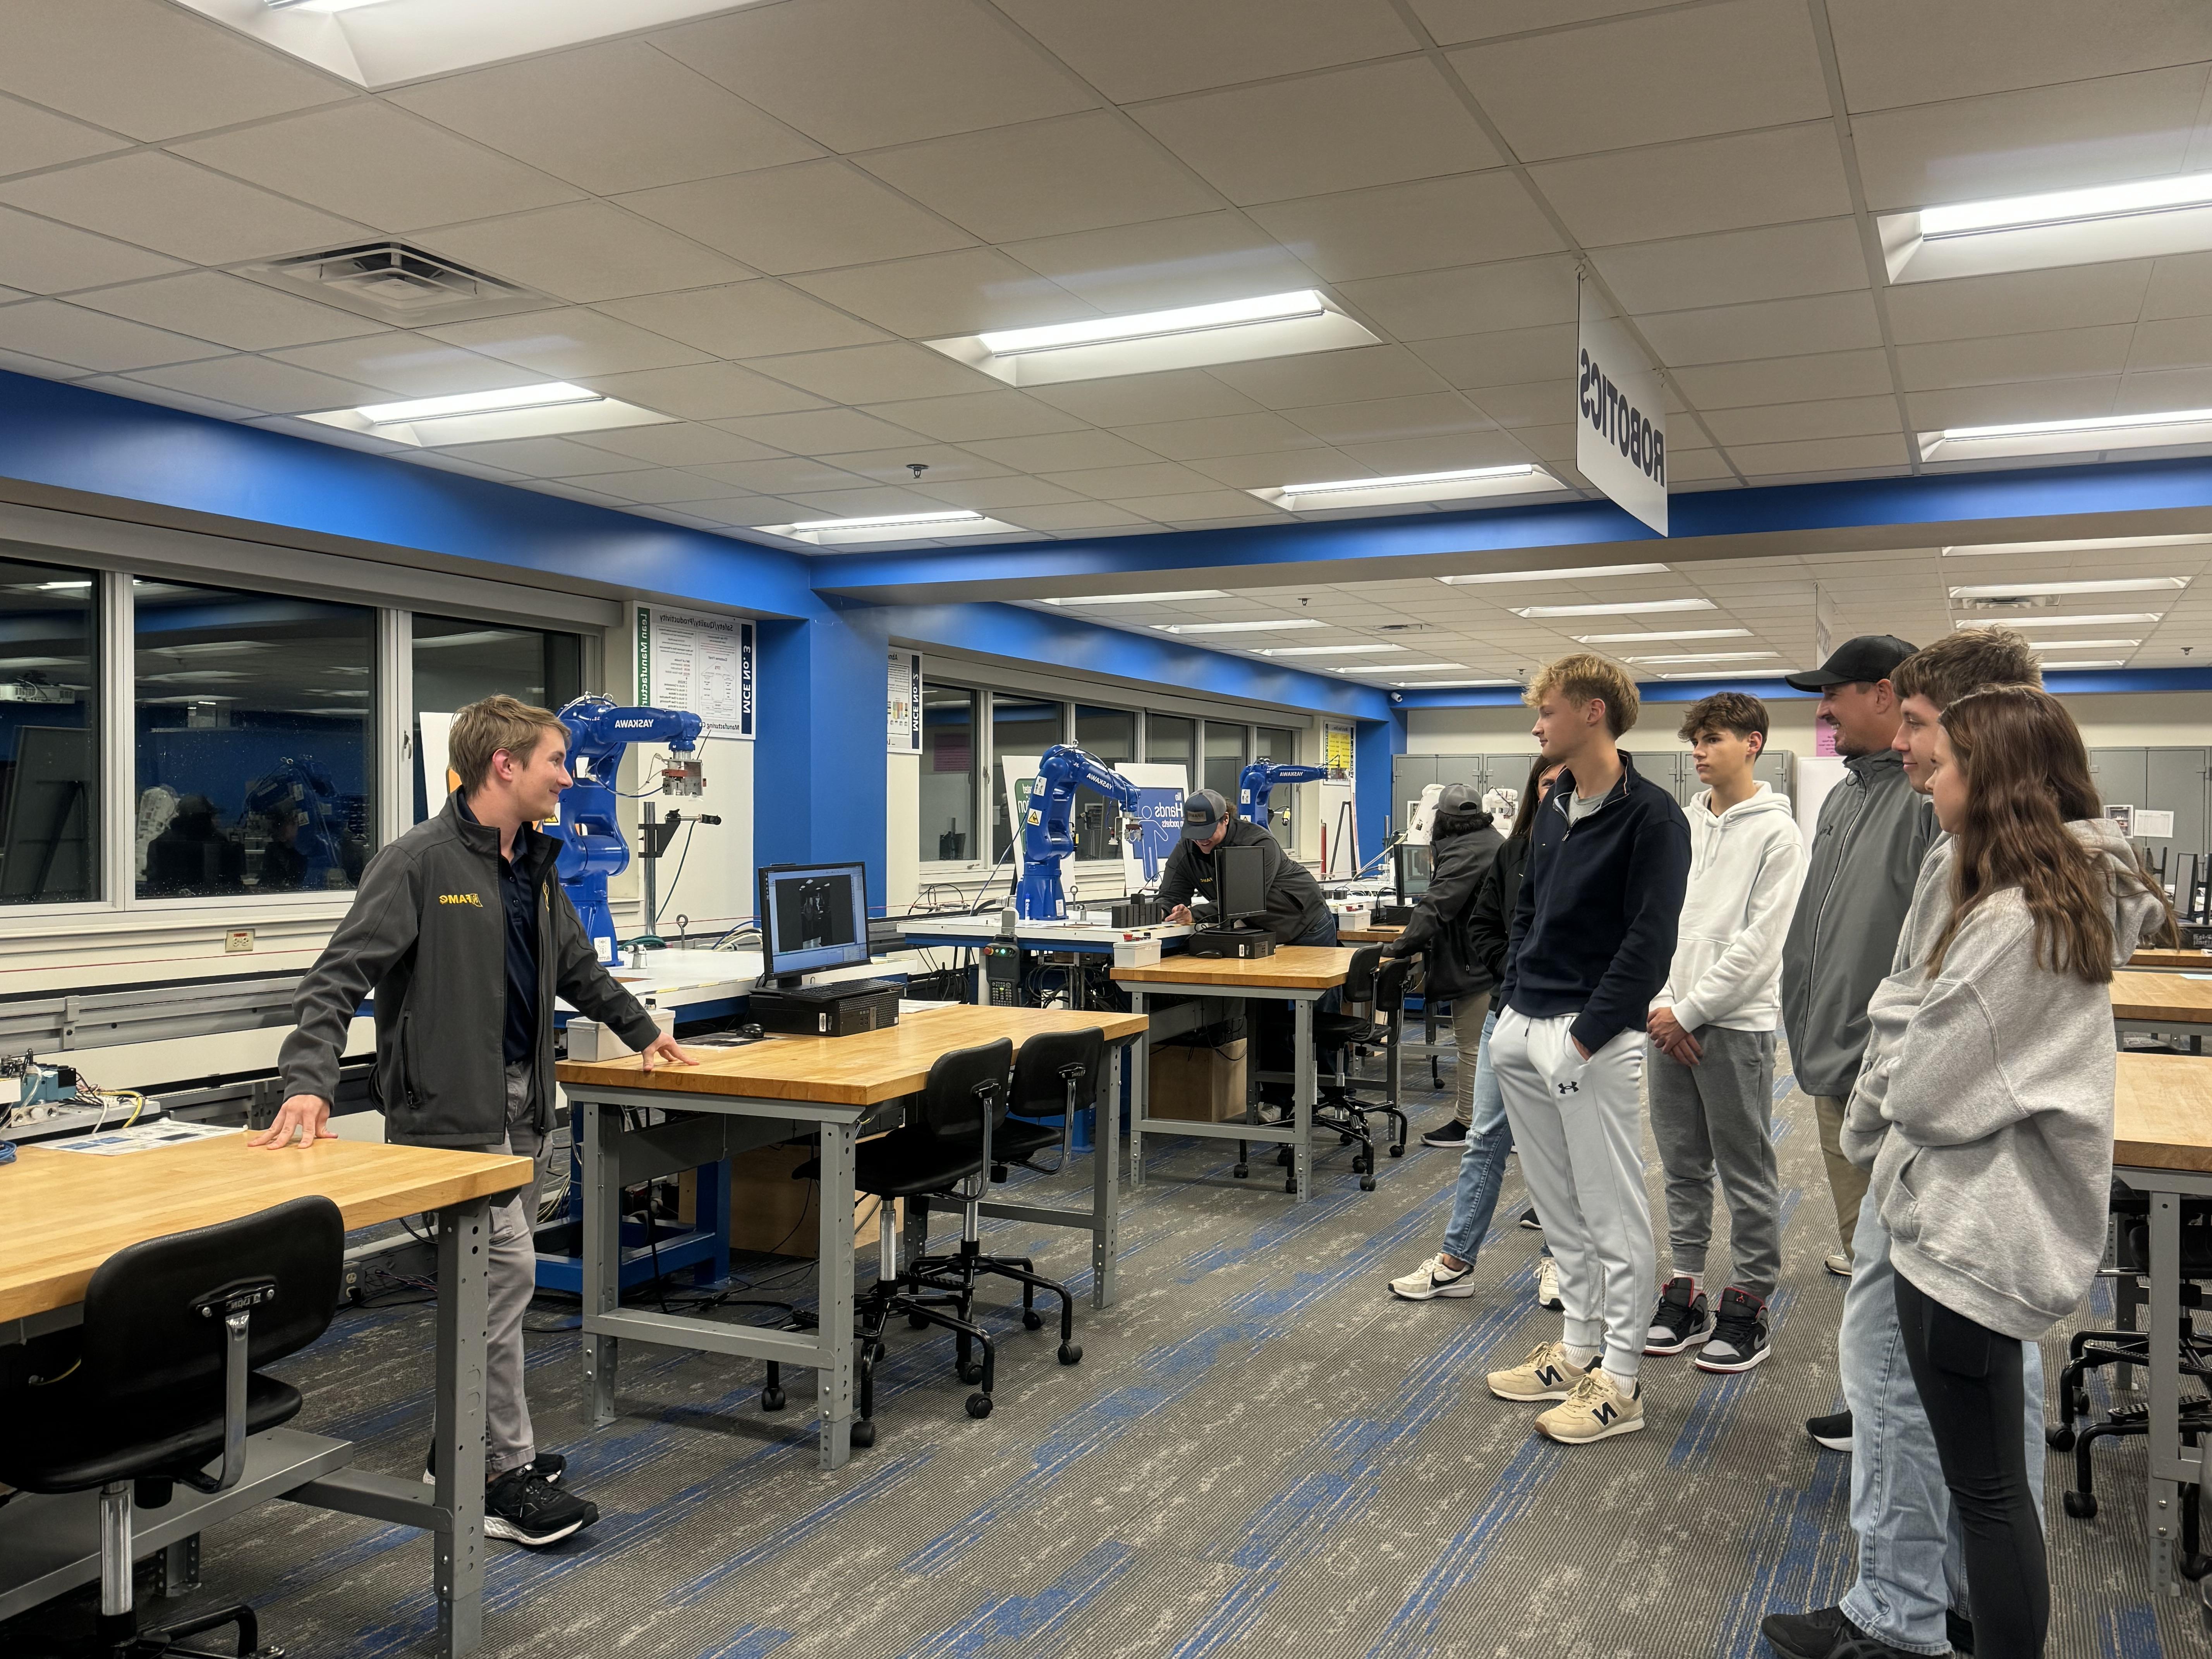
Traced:
<path fill-rule="evenodd" d="M 553 1128 L 553 998 L 644 1048 L 659 1035 L 615 984 L 553 878 L 560 841 L 529 838 L 538 896 L 538 1130 Z M 299 982 L 299 1026 L 283 1040 L 285 1095 L 338 1088 L 345 1029 L 376 989 L 374 1091 L 385 1137 L 407 1146 L 495 1146 L 507 1135 L 507 911 L 500 832 L 458 812 L 458 796 L 361 872 L 354 907 Z"/>

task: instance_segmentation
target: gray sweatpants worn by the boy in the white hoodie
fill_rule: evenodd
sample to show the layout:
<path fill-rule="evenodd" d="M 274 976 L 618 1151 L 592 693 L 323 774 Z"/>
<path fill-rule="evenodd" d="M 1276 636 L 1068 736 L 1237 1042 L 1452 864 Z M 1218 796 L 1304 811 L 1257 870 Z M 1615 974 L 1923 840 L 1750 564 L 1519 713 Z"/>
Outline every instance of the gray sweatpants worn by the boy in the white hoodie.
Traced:
<path fill-rule="evenodd" d="M 1712 1245 L 1712 1175 L 1721 1175 L 1734 1243 L 1736 1290 L 1774 1294 L 1783 1267 L 1781 1181 L 1774 1172 L 1774 1033 L 1699 1026 L 1694 1066 L 1652 1044 L 1644 1073 L 1652 1139 L 1666 1170 L 1666 1219 L 1677 1274 L 1705 1276 Z M 1712 1292 L 1719 1301 L 1719 1290 Z"/>

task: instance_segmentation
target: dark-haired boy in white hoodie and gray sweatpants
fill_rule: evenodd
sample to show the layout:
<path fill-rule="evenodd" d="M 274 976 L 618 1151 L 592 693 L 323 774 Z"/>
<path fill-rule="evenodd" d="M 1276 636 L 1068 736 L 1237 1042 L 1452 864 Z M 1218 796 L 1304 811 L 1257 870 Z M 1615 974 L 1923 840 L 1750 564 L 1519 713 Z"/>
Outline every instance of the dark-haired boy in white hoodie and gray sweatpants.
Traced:
<path fill-rule="evenodd" d="M 1774 1170 L 1774 1026 L 1783 1013 L 1783 938 L 1805 883 L 1805 841 L 1790 796 L 1752 776 L 1767 706 L 1714 692 L 1681 721 L 1697 776 L 1690 889 L 1668 982 L 1652 998 L 1652 1139 L 1666 1170 L 1674 1276 L 1659 1292 L 1646 1354 L 1692 1347 L 1701 1371 L 1750 1371 L 1767 1356 L 1767 1298 L 1783 1265 Z M 1734 1272 L 1714 1314 L 1705 1294 L 1712 1175 L 1728 1199 Z"/>

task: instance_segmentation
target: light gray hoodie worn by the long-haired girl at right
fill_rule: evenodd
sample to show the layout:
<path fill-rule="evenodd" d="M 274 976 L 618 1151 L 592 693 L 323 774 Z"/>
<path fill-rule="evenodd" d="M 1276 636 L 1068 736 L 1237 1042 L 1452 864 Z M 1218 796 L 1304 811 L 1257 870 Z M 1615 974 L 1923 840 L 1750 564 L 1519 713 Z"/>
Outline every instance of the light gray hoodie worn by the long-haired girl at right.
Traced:
<path fill-rule="evenodd" d="M 2112 867 L 2115 967 L 2159 902 L 2101 818 L 2068 830 Z M 2037 960 L 2017 887 L 1984 898 L 1927 958 L 1951 911 L 1951 841 L 1920 869 L 1898 971 L 1876 989 L 1843 1150 L 1874 1170 L 1889 1259 L 1924 1294 L 2035 1340 L 2073 1314 L 2104 1254 L 2112 1186 L 2112 1000 Z"/>

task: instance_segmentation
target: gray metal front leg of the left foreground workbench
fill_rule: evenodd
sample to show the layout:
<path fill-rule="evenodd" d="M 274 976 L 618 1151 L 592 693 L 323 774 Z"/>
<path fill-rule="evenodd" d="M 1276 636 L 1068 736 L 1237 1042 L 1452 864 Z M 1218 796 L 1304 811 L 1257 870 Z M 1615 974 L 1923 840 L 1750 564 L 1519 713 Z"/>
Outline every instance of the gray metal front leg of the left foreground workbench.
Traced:
<path fill-rule="evenodd" d="M 438 1212 L 438 1402 L 431 1458 L 447 1522 L 436 1553 L 438 1650 L 469 1652 L 484 1639 L 484 1321 L 491 1199 Z"/>

